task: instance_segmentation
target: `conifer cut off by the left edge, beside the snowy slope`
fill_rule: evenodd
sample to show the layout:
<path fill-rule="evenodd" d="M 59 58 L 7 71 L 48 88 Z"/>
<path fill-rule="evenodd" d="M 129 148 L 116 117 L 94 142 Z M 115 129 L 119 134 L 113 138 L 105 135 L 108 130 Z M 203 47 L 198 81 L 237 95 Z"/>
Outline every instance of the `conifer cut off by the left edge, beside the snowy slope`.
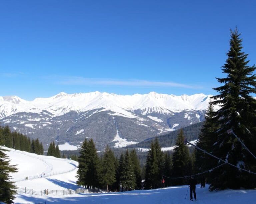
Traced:
<path fill-rule="evenodd" d="M 0 147 L 4 144 L 3 136 L 0 137 Z M 0 148 L 0 201 L 7 204 L 13 203 L 14 195 L 16 194 L 16 186 L 14 182 L 9 181 L 9 173 L 17 172 L 15 166 L 10 165 L 8 156 L 4 153 L 4 149 Z"/>

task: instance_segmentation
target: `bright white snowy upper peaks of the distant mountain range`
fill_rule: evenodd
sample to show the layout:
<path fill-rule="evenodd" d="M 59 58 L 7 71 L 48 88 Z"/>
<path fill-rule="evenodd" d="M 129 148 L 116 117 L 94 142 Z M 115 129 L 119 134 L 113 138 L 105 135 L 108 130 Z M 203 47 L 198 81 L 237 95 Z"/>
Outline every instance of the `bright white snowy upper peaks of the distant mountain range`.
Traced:
<path fill-rule="evenodd" d="M 84 112 L 94 109 L 111 110 L 128 117 L 131 112 L 140 110 L 141 114 L 181 112 L 183 110 L 205 110 L 211 95 L 194 94 L 168 95 L 150 92 L 149 94 L 117 95 L 100 93 L 66 94 L 61 92 L 50 98 L 36 98 L 26 101 L 17 96 L 0 97 L 0 118 L 18 112 L 41 113 L 43 110 L 60 116 L 70 111 Z"/>

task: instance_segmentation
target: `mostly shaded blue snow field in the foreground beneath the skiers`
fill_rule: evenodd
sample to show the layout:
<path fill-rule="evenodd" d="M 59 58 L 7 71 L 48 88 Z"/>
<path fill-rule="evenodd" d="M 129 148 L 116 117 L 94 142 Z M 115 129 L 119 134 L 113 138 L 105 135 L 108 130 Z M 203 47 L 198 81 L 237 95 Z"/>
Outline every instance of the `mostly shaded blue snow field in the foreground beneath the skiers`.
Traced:
<path fill-rule="evenodd" d="M 197 185 L 197 201 L 200 204 L 241 204 L 255 203 L 256 190 L 224 190 L 217 192 L 209 192 L 209 186 L 200 188 Z M 15 203 L 95 203 L 95 204 L 187 204 L 189 200 L 188 186 L 173 186 L 165 189 L 153 190 L 135 190 L 117 193 L 86 193 L 67 196 L 31 196 L 27 194 L 19 194 L 15 199 Z"/>

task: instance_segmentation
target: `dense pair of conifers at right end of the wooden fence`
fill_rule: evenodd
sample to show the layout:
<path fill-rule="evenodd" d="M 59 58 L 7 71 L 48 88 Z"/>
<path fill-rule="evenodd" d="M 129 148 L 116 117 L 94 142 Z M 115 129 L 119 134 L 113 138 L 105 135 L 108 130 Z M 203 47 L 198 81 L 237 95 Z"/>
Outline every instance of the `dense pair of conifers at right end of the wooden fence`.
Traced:
<path fill-rule="evenodd" d="M 81 186 L 99 186 L 99 157 L 93 140 L 85 140 L 78 156 L 77 184 Z"/>

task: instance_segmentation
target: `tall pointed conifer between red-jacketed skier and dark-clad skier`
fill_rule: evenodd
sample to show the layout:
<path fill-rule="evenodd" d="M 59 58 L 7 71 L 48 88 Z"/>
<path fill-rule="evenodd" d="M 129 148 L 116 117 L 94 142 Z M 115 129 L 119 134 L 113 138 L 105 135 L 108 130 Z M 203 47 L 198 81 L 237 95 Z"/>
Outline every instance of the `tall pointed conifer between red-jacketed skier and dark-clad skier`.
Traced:
<path fill-rule="evenodd" d="M 184 135 L 183 130 L 180 129 L 176 140 L 176 147 L 172 155 L 172 177 L 182 177 L 191 175 L 192 173 L 192 164 L 191 158 L 189 155 L 188 147 L 184 144 Z M 185 185 L 187 181 L 185 179 L 173 179 L 172 185 Z"/>

